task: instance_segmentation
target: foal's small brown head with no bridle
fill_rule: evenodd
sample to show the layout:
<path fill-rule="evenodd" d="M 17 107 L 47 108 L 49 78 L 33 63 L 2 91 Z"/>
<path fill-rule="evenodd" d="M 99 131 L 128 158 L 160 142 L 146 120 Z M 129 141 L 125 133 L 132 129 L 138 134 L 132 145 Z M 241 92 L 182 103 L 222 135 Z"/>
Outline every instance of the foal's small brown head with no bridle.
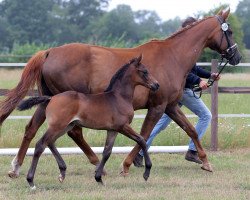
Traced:
<path fill-rule="evenodd" d="M 135 66 L 136 73 L 134 73 L 134 80 L 137 84 L 143 85 L 153 91 L 156 91 L 160 85 L 158 81 L 148 72 L 145 65 L 141 63 L 142 55 L 134 58 L 131 64 Z"/>

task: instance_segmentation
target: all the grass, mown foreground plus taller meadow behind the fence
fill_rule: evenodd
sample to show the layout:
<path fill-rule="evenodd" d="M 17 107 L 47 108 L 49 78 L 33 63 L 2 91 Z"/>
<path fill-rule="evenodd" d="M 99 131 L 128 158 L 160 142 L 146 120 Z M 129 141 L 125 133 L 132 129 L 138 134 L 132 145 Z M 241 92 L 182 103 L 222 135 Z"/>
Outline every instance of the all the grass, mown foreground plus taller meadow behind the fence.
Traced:
<path fill-rule="evenodd" d="M 21 70 L 0 69 L 0 88 L 14 87 Z M 249 86 L 250 74 L 225 74 L 220 86 Z M 220 94 L 220 114 L 250 113 L 249 95 Z M 210 107 L 210 95 L 202 96 Z M 184 109 L 184 112 L 190 112 Z M 32 115 L 14 111 L 12 115 Z M 145 114 L 146 110 L 136 111 Z M 196 118 L 190 119 L 195 124 Z M 19 147 L 28 120 L 6 120 L 1 127 L 0 148 Z M 134 119 L 132 126 L 139 132 L 143 120 Z M 213 173 L 205 172 L 200 166 L 184 160 L 184 154 L 151 154 L 153 168 L 147 182 L 143 169 L 131 167 L 126 178 L 118 176 L 119 166 L 125 155 L 111 155 L 104 178 L 105 186 L 94 180 L 94 167 L 85 156 L 63 156 L 68 166 L 63 184 L 57 181 L 58 167 L 52 156 L 42 156 L 35 175 L 35 192 L 29 190 L 25 180 L 31 157 L 26 157 L 21 168 L 20 178 L 11 180 L 7 176 L 12 156 L 0 156 L 0 199 L 250 199 L 250 118 L 219 119 L 219 151 L 209 152 Z M 39 129 L 32 141 L 34 147 L 44 133 L 46 123 Z M 84 130 L 84 137 L 91 146 L 103 146 L 104 131 Z M 162 131 L 153 145 L 186 145 L 189 138 L 175 123 Z M 203 146 L 209 150 L 210 130 L 202 139 Z M 134 142 L 118 136 L 115 146 L 134 145 Z M 61 137 L 57 146 L 76 146 L 67 136 Z M 100 157 L 101 155 L 99 155 Z"/>

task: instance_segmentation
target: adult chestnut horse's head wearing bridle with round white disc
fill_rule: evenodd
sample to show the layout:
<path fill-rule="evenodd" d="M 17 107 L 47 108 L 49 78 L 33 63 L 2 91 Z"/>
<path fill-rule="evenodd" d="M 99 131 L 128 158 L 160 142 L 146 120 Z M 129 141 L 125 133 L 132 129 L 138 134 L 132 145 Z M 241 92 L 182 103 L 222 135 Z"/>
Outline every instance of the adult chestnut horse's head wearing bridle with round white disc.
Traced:
<path fill-rule="evenodd" d="M 241 60 L 241 55 L 237 44 L 233 40 L 233 31 L 226 22 L 229 13 L 230 9 L 225 12 L 219 11 L 215 15 L 218 26 L 211 32 L 207 46 L 220 53 L 231 65 L 237 65 Z"/>

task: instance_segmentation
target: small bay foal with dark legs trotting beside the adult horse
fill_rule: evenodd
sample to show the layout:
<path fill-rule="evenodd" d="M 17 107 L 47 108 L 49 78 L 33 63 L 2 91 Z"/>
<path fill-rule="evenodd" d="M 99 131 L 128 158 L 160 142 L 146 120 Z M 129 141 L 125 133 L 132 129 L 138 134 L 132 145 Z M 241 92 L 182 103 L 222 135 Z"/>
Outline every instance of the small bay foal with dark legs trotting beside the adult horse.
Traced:
<path fill-rule="evenodd" d="M 130 63 L 119 69 L 112 77 L 110 85 L 104 93 L 83 94 L 67 91 L 53 97 L 29 98 L 18 106 L 19 110 L 26 110 L 40 103 L 47 105 L 46 119 L 48 129 L 36 144 L 32 164 L 27 175 L 27 181 L 32 189 L 35 189 L 33 179 L 39 157 L 47 145 L 58 162 L 61 171 L 59 180 L 61 182 L 64 180 L 66 165 L 54 147 L 54 142 L 74 126 L 107 130 L 108 132 L 103 158 L 95 174 L 97 182 L 102 183 L 101 175 L 103 168 L 111 155 L 117 132 L 136 141 L 142 148 L 145 153 L 145 172 L 143 177 L 145 180 L 148 179 L 152 164 L 147 153 L 146 141 L 129 124 L 134 116 L 133 95 L 135 86 L 142 85 L 156 91 L 159 88 L 159 84 L 140 61 L 141 56 L 131 60 Z"/>

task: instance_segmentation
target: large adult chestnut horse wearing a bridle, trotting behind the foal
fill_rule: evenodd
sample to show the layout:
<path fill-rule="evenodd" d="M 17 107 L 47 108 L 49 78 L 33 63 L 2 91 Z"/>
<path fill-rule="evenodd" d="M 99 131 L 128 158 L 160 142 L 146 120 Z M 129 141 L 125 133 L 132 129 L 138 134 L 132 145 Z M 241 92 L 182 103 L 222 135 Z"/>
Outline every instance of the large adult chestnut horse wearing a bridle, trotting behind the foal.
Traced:
<path fill-rule="evenodd" d="M 19 84 L 2 102 L 0 124 L 35 84 L 44 95 L 55 95 L 67 90 L 98 93 L 107 87 L 108 80 L 117 70 L 116 66 L 121 66 L 129 58 L 143 53 L 143 63 L 148 66 L 161 88 L 156 93 L 140 86 L 135 89 L 134 109 L 148 109 L 141 135 L 147 139 L 165 112 L 194 141 L 203 162 L 202 168 L 212 171 L 195 128 L 177 106 L 177 102 L 182 95 L 186 76 L 204 48 L 217 51 L 232 65 L 240 62 L 241 55 L 232 38 L 232 30 L 230 27 L 225 28 L 229 13 L 229 9 L 220 11 L 215 16 L 206 17 L 179 30 L 165 40 L 153 40 L 135 48 L 107 48 L 77 43 L 40 51 L 30 59 Z M 9 172 L 11 177 L 18 176 L 29 144 L 44 120 L 45 108 L 40 105 L 26 126 L 21 147 L 12 161 L 13 169 Z M 96 165 L 99 160 L 83 139 L 81 129 L 75 127 L 68 134 L 85 152 L 90 162 Z M 128 173 L 139 149 L 136 145 L 124 160 L 124 174 Z"/>

